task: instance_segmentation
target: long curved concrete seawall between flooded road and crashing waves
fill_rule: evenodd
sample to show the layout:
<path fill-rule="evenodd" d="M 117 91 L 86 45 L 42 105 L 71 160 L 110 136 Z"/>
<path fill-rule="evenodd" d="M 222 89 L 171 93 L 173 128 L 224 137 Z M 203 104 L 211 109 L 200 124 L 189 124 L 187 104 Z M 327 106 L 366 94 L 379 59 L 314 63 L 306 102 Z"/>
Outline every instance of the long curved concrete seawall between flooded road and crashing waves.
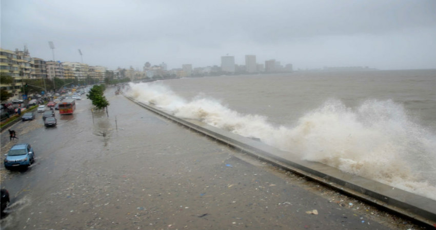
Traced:
<path fill-rule="evenodd" d="M 281 151 L 259 141 L 224 131 L 195 120 L 185 120 L 172 116 L 158 108 L 138 102 L 138 105 L 182 124 L 197 132 L 228 144 L 244 153 L 265 160 L 274 166 L 303 175 L 332 189 L 339 190 L 368 203 L 378 206 L 411 220 L 434 227 L 436 224 L 436 200 L 416 195 L 383 183 L 341 172 L 339 169 L 316 162 L 300 160 L 292 153 Z"/>

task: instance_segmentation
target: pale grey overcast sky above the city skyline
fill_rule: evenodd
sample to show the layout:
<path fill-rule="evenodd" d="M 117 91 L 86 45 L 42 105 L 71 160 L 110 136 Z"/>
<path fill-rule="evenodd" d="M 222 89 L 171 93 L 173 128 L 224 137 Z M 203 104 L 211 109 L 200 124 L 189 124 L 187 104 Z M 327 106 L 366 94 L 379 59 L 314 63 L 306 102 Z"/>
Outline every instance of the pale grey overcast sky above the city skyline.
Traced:
<path fill-rule="evenodd" d="M 1 0 L 1 47 L 32 57 L 168 68 L 221 65 L 221 56 L 275 59 L 294 69 L 436 68 L 436 1 Z"/>

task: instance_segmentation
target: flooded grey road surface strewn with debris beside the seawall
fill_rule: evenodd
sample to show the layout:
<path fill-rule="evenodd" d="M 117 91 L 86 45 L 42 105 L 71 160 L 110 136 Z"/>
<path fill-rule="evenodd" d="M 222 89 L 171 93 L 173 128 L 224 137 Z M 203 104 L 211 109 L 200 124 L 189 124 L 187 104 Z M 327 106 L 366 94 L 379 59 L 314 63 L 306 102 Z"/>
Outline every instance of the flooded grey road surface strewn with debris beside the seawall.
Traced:
<path fill-rule="evenodd" d="M 0 167 L 2 229 L 426 229 L 106 97 L 109 117 L 84 99 L 56 127 L 40 113 L 2 133 L 2 162 L 14 143 L 36 156 Z"/>

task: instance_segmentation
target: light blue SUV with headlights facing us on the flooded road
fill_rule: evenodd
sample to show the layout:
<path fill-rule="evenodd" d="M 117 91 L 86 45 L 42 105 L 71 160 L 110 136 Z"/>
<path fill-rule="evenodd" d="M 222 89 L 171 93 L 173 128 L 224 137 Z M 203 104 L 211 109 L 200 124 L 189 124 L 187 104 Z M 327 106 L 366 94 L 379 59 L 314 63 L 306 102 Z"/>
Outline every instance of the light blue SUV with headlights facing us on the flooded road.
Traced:
<path fill-rule="evenodd" d="M 5 168 L 31 166 L 35 159 L 33 148 L 28 143 L 16 144 L 11 147 L 5 158 Z"/>

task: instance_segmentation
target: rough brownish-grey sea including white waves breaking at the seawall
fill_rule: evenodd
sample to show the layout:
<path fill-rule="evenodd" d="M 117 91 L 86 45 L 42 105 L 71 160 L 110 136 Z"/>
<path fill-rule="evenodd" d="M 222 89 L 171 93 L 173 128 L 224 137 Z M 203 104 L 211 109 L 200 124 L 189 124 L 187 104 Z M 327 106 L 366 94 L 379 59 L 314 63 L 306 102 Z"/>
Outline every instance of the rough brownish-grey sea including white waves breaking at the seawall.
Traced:
<path fill-rule="evenodd" d="M 183 78 L 125 94 L 436 200 L 436 70 Z"/>

